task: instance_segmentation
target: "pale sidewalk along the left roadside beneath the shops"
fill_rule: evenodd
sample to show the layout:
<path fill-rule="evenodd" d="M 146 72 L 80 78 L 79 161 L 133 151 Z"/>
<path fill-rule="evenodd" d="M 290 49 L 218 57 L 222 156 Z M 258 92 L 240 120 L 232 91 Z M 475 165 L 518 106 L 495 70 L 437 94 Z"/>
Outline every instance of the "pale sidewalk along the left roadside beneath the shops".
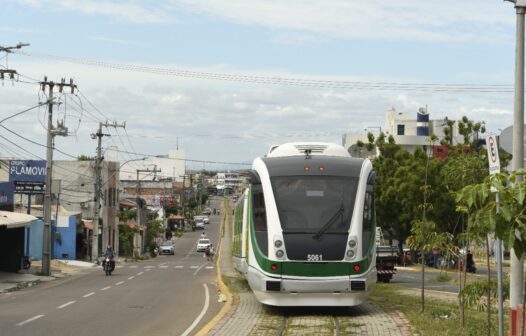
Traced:
<path fill-rule="evenodd" d="M 96 264 L 79 260 L 52 260 L 51 275 L 43 276 L 39 275 L 41 265 L 40 261 L 33 261 L 29 270 L 21 270 L 18 273 L 0 272 L 0 294 L 32 287 L 41 282 L 65 278 L 88 268 L 97 267 Z"/>

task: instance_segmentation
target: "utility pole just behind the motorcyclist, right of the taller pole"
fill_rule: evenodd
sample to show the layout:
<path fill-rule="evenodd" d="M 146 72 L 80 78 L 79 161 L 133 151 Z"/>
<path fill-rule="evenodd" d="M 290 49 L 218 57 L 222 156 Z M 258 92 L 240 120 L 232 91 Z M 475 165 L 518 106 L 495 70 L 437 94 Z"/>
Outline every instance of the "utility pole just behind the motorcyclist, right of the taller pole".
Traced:
<path fill-rule="evenodd" d="M 102 127 L 122 127 L 126 128 L 126 123 L 118 125 L 117 122 L 105 123 L 99 122 L 99 130 L 95 134 L 91 134 L 91 138 L 98 139 L 97 142 L 97 158 L 95 159 L 95 213 L 93 215 L 93 239 L 91 242 L 91 260 L 94 261 L 99 256 L 99 224 L 100 224 L 100 199 L 102 195 L 102 181 L 101 181 L 101 164 L 102 164 L 102 137 L 110 136 L 110 134 L 102 133 Z M 102 248 L 108 244 L 108 223 L 107 221 L 102 221 Z"/>

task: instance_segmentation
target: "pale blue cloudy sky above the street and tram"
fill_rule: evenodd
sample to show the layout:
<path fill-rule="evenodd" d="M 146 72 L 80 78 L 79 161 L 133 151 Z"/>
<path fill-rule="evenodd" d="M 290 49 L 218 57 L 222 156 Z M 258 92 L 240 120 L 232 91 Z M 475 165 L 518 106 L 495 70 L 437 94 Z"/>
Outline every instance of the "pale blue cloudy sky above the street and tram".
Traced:
<path fill-rule="evenodd" d="M 513 122 L 515 22 L 500 0 L 2 0 L 0 120 L 56 93 L 55 159 L 118 146 L 121 160 L 184 149 L 189 169 L 247 167 L 285 142 L 341 143 L 391 107 Z M 441 85 L 441 86 L 437 86 Z M 423 89 L 427 88 L 427 89 Z M 432 89 L 429 89 L 432 88 Z M 459 89 L 462 88 L 462 89 Z M 45 158 L 47 107 L 1 121 L 0 157 Z M 29 140 L 29 141 L 28 141 Z M 31 142 L 32 141 L 32 142 Z"/>

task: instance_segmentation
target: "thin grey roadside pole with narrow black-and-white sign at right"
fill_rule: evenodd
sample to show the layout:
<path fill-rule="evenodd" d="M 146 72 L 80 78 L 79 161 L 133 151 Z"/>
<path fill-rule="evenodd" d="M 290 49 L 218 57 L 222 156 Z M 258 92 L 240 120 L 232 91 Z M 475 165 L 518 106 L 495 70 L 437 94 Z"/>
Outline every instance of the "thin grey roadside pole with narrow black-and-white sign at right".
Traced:
<path fill-rule="evenodd" d="M 500 172 L 499 146 L 497 137 L 490 134 L 486 137 L 486 149 L 488 151 L 488 163 L 490 175 Z M 492 192 L 496 192 L 493 187 Z M 499 194 L 496 194 L 497 213 L 499 213 Z M 504 336 L 504 299 L 502 292 L 502 240 L 497 239 L 497 291 L 499 295 L 499 336 Z"/>

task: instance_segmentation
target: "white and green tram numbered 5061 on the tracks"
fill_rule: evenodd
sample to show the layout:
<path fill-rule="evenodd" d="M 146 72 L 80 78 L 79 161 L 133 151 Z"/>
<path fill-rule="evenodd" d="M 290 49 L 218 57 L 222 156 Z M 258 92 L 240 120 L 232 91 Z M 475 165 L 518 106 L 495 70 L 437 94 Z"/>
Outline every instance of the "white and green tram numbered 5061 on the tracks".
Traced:
<path fill-rule="evenodd" d="M 233 260 L 271 306 L 355 306 L 376 283 L 374 180 L 339 145 L 288 143 L 252 164 Z"/>

